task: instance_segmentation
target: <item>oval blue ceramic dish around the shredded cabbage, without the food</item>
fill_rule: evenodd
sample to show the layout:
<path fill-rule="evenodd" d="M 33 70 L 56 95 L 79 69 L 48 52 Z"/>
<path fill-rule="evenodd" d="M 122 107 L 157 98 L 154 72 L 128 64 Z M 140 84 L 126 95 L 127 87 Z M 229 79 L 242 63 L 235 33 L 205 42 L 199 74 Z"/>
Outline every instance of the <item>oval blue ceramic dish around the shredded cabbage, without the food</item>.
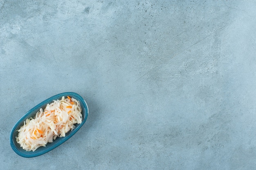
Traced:
<path fill-rule="evenodd" d="M 72 131 L 69 131 L 68 133 L 66 133 L 65 137 L 57 137 L 52 143 L 47 143 L 45 147 L 41 146 L 41 147 L 37 148 L 34 152 L 26 151 L 26 150 L 22 149 L 22 147 L 20 147 L 20 144 L 18 144 L 16 142 L 16 138 L 15 138 L 16 136 L 18 136 L 17 130 L 20 129 L 20 126 L 24 125 L 24 121 L 26 119 L 29 119 L 31 117 L 34 118 L 36 116 L 36 112 L 38 112 L 40 108 L 44 109 L 46 107 L 47 103 L 51 103 L 51 102 L 53 102 L 53 100 L 61 99 L 62 96 L 65 96 L 65 98 L 67 96 L 70 96 L 71 98 L 75 98 L 76 100 L 78 100 L 80 102 L 81 109 L 82 109 L 82 123 L 75 124 L 76 127 Z M 53 150 L 54 148 L 60 146 L 65 141 L 67 141 L 67 139 L 72 137 L 83 126 L 83 124 L 85 123 L 85 121 L 87 119 L 87 116 L 88 116 L 88 106 L 87 106 L 85 100 L 79 94 L 76 94 L 74 92 L 65 92 L 65 93 L 61 93 L 61 94 L 52 96 L 52 97 L 46 99 L 45 101 L 41 102 L 40 104 L 36 105 L 31 110 L 29 110 L 13 126 L 13 128 L 11 129 L 11 134 L 10 134 L 11 148 L 14 150 L 14 152 L 16 152 L 18 155 L 20 155 L 22 157 L 28 158 L 28 157 L 37 157 L 39 155 L 43 155 L 43 154 L 49 152 L 50 150 Z"/>

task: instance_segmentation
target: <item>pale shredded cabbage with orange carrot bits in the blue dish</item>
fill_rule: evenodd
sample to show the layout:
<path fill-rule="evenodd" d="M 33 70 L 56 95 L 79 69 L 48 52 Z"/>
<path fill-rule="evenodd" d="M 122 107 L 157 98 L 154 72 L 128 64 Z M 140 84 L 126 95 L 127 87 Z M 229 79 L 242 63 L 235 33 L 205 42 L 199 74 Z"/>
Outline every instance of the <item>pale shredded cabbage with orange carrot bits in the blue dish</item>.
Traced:
<path fill-rule="evenodd" d="M 79 101 L 74 98 L 63 96 L 61 100 L 54 100 L 44 111 L 40 108 L 34 119 L 24 121 L 16 142 L 27 151 L 35 151 L 56 137 L 65 137 L 65 133 L 75 128 L 74 124 L 81 124 L 81 111 Z"/>

